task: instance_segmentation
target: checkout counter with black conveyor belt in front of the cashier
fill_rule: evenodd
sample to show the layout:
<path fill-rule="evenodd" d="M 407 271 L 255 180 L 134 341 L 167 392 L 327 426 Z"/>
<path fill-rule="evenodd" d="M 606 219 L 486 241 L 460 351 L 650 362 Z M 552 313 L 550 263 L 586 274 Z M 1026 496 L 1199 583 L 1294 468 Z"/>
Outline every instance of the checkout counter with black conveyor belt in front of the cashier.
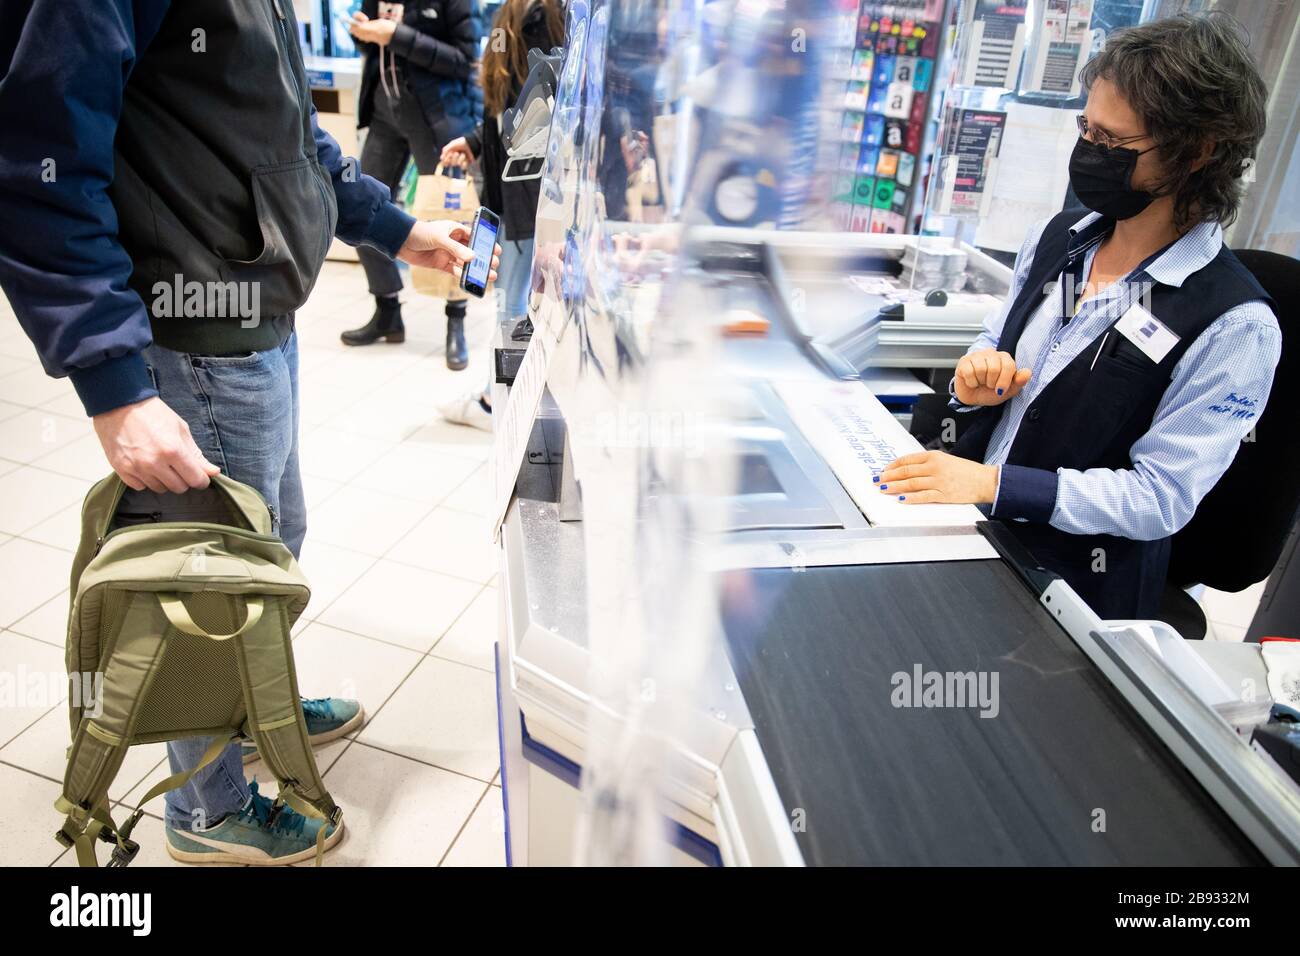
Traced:
<path fill-rule="evenodd" d="M 1160 624 L 1102 622 L 976 509 L 909 507 L 863 481 L 919 446 L 857 377 L 871 350 L 842 332 L 870 325 L 862 310 L 876 306 L 845 277 L 889 274 L 909 241 L 719 229 L 686 256 L 699 295 L 725 290 L 771 325 L 725 347 L 748 394 L 732 411 L 738 481 L 711 550 L 719 633 L 662 786 L 664 858 L 1300 862 L 1300 788 L 1205 689 L 1247 671 L 1264 687 L 1257 662 L 1210 644 L 1201 656 Z M 833 282 L 832 264 L 845 267 Z M 796 290 L 814 303 L 802 315 Z M 494 389 L 504 407 L 508 385 Z M 500 537 L 514 865 L 571 862 L 582 810 L 592 635 L 567 454 L 543 397 Z M 968 675 L 965 706 L 927 702 L 944 675 Z"/>

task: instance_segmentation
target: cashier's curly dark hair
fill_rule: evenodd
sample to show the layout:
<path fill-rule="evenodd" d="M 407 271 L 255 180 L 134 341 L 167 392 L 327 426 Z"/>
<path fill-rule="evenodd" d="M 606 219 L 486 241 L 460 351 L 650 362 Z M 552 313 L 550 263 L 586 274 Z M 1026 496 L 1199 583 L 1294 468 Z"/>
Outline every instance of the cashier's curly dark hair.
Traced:
<path fill-rule="evenodd" d="M 1114 83 L 1147 124 L 1169 170 L 1149 189 L 1174 196 L 1180 232 L 1236 219 L 1268 100 L 1248 39 L 1227 13 L 1183 13 L 1115 33 L 1080 74 L 1088 88 L 1097 79 Z M 1193 172 L 1206 142 L 1210 159 Z"/>

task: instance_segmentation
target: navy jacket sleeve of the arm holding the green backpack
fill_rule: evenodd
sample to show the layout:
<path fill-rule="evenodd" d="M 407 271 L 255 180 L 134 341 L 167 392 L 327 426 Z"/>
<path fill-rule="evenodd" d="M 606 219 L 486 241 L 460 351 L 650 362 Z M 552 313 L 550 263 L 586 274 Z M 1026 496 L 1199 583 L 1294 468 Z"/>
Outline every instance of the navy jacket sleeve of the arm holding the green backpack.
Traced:
<path fill-rule="evenodd" d="M 0 286 L 46 372 L 72 378 L 87 415 L 157 394 L 108 187 L 126 79 L 166 9 L 34 0 L 4 13 Z"/>

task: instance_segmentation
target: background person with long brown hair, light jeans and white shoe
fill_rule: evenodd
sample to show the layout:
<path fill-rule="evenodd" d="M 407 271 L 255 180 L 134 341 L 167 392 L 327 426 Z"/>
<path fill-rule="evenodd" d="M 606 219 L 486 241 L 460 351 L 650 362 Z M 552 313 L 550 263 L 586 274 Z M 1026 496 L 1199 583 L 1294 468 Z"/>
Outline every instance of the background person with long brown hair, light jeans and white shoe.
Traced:
<path fill-rule="evenodd" d="M 442 150 L 443 165 L 464 168 L 478 160 L 484 206 L 502 219 L 498 321 L 528 312 L 533 221 L 541 190 L 541 179 L 502 181 L 507 160 L 500 138 L 502 114 L 514 105 L 528 79 L 528 51 L 550 52 L 563 43 L 564 7 L 559 0 L 506 0 L 497 10 L 482 60 L 484 121 Z M 441 411 L 448 421 L 491 431 L 491 405 L 485 389 L 473 389 Z"/>

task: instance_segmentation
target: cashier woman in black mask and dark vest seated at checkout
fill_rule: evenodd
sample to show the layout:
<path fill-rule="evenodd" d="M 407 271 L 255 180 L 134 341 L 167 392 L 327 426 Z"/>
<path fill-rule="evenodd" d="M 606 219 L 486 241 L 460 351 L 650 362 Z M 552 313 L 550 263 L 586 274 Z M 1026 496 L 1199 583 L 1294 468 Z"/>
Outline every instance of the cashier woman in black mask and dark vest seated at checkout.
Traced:
<path fill-rule="evenodd" d="M 909 503 L 991 506 L 1098 615 L 1157 618 L 1170 536 L 1249 436 L 1280 354 L 1268 294 L 1223 243 L 1266 94 L 1225 14 L 1115 34 L 1083 82 L 1070 183 L 1091 212 L 1020 248 L 950 385 L 970 418 L 953 454 L 876 480 Z"/>

